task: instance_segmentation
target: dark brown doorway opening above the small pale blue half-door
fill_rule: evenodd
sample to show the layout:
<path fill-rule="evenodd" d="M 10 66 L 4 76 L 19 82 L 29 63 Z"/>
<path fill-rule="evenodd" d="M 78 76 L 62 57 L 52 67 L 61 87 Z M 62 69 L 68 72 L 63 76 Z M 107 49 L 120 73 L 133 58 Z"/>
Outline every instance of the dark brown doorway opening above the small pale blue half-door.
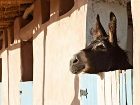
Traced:
<path fill-rule="evenodd" d="M 33 81 L 33 41 L 21 42 L 22 81 Z"/>

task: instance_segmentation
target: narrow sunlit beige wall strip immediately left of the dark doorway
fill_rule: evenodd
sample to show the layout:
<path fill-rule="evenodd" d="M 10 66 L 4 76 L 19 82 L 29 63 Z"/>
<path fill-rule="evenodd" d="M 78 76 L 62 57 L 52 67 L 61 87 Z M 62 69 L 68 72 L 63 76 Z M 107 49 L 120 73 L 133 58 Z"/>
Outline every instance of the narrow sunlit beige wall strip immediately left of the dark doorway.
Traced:
<path fill-rule="evenodd" d="M 9 62 L 9 104 L 20 105 L 20 92 L 19 92 L 19 83 L 21 80 L 20 47 L 14 50 L 9 50 L 8 56 L 9 56 L 8 59 L 9 60 L 8 61 Z"/>

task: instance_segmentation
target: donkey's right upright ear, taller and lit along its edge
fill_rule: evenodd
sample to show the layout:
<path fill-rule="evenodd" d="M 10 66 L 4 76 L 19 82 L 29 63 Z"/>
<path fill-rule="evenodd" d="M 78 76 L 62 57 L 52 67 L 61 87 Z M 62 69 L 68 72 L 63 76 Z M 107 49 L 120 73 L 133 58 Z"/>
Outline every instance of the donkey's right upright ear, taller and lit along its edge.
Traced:
<path fill-rule="evenodd" d="M 116 23 L 117 19 L 113 12 L 110 12 L 110 23 L 109 27 L 109 42 L 113 45 L 117 45 L 117 35 L 116 35 Z"/>

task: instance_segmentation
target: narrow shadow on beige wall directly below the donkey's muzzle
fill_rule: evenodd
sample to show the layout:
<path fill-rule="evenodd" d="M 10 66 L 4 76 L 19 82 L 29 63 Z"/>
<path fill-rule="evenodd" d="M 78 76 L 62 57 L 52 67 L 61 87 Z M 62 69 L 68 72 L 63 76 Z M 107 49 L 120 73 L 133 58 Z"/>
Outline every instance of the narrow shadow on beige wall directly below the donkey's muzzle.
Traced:
<path fill-rule="evenodd" d="M 80 100 L 78 99 L 78 94 L 79 94 L 79 76 L 78 75 L 75 75 L 75 78 L 74 78 L 74 90 L 75 90 L 75 96 L 73 98 L 71 105 L 80 105 Z"/>

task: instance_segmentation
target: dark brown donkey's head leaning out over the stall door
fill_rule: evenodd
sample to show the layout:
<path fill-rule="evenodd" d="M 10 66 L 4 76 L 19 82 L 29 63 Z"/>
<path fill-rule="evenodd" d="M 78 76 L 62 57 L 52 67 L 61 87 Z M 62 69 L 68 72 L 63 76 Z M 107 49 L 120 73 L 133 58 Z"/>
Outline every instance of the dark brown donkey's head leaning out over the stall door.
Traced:
<path fill-rule="evenodd" d="M 97 15 L 96 28 L 91 30 L 93 41 L 70 60 L 73 74 L 132 69 L 126 51 L 117 44 L 116 24 L 116 16 L 110 12 L 109 32 L 106 34 Z"/>

